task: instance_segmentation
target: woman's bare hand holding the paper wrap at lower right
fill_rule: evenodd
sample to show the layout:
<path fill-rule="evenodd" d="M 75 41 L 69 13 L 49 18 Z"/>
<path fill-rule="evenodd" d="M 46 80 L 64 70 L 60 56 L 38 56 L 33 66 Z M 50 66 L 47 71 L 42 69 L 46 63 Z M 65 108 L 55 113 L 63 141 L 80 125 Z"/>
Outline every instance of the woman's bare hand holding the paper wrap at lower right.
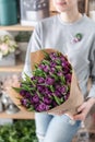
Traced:
<path fill-rule="evenodd" d="M 87 114 L 90 113 L 94 104 L 95 104 L 95 98 L 88 98 L 78 108 L 78 114 L 73 116 L 73 119 L 85 120 Z"/>

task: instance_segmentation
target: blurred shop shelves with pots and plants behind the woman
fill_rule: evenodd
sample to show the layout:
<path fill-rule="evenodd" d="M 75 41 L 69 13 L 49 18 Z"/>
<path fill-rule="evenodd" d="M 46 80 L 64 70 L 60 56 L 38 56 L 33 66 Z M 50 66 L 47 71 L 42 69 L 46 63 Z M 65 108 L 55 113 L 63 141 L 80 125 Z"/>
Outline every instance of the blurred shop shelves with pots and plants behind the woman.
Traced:
<path fill-rule="evenodd" d="M 95 21 L 95 0 L 79 0 L 79 10 Z M 0 46 L 10 46 L 8 42 L 16 44 L 12 52 L 0 54 L 0 142 L 37 142 L 34 114 L 21 111 L 7 88 L 21 79 L 35 25 L 55 14 L 52 0 L 0 0 Z M 95 107 L 73 139 L 73 142 L 94 141 Z"/>

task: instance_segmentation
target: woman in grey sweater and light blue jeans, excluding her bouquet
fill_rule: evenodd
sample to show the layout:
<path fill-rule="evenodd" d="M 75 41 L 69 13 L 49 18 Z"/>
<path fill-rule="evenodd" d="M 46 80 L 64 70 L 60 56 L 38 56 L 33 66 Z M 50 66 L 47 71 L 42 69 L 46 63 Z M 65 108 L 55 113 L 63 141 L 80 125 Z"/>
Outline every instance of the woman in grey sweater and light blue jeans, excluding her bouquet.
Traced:
<path fill-rule="evenodd" d="M 43 20 L 35 27 L 27 49 L 24 72 L 32 75 L 32 51 L 51 47 L 68 55 L 85 102 L 78 108 L 78 115 L 73 116 L 74 121 L 67 114 L 35 114 L 35 120 L 39 142 L 71 142 L 81 121 L 95 104 L 95 23 L 79 12 L 78 0 L 54 0 L 54 4 L 59 14 Z M 93 83 L 87 94 L 88 76 Z"/>

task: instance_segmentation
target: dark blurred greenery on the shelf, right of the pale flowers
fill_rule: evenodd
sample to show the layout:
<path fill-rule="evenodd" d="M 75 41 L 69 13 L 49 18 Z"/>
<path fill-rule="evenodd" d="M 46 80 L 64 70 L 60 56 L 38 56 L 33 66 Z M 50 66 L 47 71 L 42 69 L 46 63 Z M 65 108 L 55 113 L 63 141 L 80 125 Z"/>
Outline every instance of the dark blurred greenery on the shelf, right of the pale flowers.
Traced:
<path fill-rule="evenodd" d="M 15 36 L 16 42 L 28 43 L 32 32 L 19 32 Z"/>

